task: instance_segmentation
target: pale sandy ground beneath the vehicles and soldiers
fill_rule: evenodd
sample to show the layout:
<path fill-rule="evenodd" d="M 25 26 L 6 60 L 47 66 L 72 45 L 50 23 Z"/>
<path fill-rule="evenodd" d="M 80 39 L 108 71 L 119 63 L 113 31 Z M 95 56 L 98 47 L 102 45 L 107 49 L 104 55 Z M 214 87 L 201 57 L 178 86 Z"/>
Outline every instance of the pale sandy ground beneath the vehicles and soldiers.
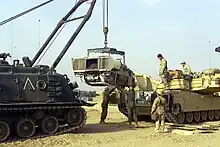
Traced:
<path fill-rule="evenodd" d="M 155 134 L 154 124 L 140 122 L 141 128 L 125 123 L 127 120 L 116 107 L 109 107 L 106 122 L 99 124 L 100 104 L 87 108 L 86 125 L 77 133 L 69 133 L 24 142 L 0 144 L 1 147 L 220 147 L 220 132 L 209 134 L 178 135 Z"/>

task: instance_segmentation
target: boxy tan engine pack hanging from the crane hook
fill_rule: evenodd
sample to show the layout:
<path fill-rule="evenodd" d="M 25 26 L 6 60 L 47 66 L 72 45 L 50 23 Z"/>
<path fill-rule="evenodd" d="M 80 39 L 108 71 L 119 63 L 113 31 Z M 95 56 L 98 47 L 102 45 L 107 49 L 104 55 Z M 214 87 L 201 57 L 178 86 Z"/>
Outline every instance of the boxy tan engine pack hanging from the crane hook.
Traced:
<path fill-rule="evenodd" d="M 122 59 L 114 59 L 113 55 L 122 56 Z M 74 74 L 84 77 L 90 86 L 132 85 L 133 72 L 125 65 L 125 53 L 115 48 L 88 49 L 87 57 L 72 59 L 72 68 Z"/>

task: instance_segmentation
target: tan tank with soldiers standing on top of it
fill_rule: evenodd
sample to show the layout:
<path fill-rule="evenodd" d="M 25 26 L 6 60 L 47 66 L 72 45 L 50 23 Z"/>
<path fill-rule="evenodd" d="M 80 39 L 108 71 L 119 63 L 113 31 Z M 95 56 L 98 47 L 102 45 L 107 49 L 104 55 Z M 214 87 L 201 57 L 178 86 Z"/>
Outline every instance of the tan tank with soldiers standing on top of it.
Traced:
<path fill-rule="evenodd" d="M 172 73 L 175 73 L 172 75 Z M 156 98 L 155 89 L 163 89 L 160 81 L 144 74 L 136 74 L 137 113 L 150 118 L 151 106 Z M 191 89 L 180 70 L 170 71 L 169 92 L 165 98 L 169 104 L 166 119 L 174 123 L 192 123 L 220 119 L 220 70 L 208 69 L 195 74 Z M 121 111 L 127 115 L 126 109 Z"/>

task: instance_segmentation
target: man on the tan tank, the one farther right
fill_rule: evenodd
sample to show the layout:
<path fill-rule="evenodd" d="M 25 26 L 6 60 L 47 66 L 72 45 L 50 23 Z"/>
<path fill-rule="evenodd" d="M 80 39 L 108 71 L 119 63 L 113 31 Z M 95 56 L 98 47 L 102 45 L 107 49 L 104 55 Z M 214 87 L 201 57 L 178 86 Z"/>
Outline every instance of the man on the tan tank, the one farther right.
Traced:
<path fill-rule="evenodd" d="M 183 66 L 183 78 L 188 81 L 187 89 L 191 89 L 192 82 L 192 71 L 188 64 L 185 61 L 181 62 Z"/>

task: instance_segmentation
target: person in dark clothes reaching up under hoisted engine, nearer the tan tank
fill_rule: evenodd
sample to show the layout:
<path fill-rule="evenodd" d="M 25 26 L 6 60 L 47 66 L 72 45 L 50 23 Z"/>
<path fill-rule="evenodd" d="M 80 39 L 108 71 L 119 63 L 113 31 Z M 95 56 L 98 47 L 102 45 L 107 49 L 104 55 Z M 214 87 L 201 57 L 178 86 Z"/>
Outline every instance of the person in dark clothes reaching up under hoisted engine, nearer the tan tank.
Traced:
<path fill-rule="evenodd" d="M 130 88 L 126 88 L 125 90 L 118 87 L 118 89 L 125 93 L 125 102 L 126 107 L 128 110 L 128 122 L 129 125 L 132 124 L 132 120 L 135 121 L 135 127 L 138 127 L 138 120 L 137 120 L 137 112 L 135 107 L 135 91 L 134 91 L 134 85 L 130 86 Z"/>

